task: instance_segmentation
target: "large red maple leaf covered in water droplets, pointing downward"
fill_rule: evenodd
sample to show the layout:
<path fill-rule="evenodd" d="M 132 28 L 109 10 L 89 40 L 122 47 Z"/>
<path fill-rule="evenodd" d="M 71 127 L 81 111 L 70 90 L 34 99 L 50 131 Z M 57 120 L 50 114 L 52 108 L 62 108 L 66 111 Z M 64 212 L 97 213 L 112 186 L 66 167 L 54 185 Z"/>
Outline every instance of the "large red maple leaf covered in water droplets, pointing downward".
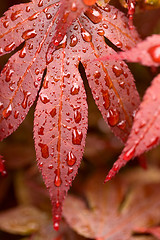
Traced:
<path fill-rule="evenodd" d="M 80 165 L 87 133 L 86 94 L 79 63 L 85 68 L 105 121 L 122 141 L 129 135 L 132 113 L 139 105 L 133 76 L 124 62 L 94 61 L 103 52 L 115 52 L 104 37 L 122 50 L 136 45 L 139 37 L 136 30 L 130 32 L 127 18 L 112 6 L 90 7 L 72 25 L 67 18 L 66 26 L 70 28 L 61 31 L 66 35 L 60 43 L 58 38 L 59 45 L 54 49 L 54 35 L 62 25 L 59 14 L 65 12 L 61 7 L 55 0 L 34 0 L 10 8 L 0 21 L 1 55 L 24 43 L 0 75 L 0 138 L 17 129 L 39 93 L 34 119 L 35 148 L 50 192 L 55 229 L 59 227 L 62 201 Z"/>

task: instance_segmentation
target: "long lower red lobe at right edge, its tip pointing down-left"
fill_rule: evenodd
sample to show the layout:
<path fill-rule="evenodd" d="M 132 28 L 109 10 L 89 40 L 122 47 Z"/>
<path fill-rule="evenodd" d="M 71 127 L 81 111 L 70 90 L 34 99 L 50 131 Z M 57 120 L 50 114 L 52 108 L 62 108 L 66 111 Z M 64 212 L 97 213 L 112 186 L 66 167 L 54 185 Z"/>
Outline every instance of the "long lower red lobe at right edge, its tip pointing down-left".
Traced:
<path fill-rule="evenodd" d="M 114 163 L 106 180 L 111 179 L 119 169 L 132 158 L 141 155 L 160 143 L 160 74 L 147 89 L 135 116 L 130 136 L 118 160 Z"/>

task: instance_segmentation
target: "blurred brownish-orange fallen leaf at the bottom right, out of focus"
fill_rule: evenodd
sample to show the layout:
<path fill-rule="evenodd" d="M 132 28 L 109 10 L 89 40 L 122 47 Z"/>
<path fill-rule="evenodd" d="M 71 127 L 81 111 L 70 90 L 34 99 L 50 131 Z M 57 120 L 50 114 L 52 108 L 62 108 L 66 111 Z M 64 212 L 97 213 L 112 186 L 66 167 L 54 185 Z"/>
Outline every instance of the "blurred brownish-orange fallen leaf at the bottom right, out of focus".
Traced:
<path fill-rule="evenodd" d="M 150 170 L 141 169 L 137 175 L 137 169 L 133 169 L 105 185 L 100 183 L 102 171 L 93 175 L 83 186 L 85 201 L 67 196 L 63 210 L 66 221 L 87 238 L 117 240 L 123 236 L 124 240 L 140 240 L 133 235 L 137 229 L 159 223 L 159 171 Z"/>

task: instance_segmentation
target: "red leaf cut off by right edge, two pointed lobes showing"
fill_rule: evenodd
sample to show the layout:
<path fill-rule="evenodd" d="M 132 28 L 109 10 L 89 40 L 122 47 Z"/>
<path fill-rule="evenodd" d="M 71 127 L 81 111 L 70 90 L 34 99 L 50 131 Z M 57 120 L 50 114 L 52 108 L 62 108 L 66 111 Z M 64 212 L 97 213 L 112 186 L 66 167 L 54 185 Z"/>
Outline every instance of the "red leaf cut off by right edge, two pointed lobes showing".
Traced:
<path fill-rule="evenodd" d="M 160 65 L 160 36 L 154 35 L 139 43 L 136 48 L 122 53 L 125 59 L 140 61 L 145 65 Z M 135 56 L 133 57 L 133 51 Z M 131 58 L 130 58 L 131 56 Z M 132 58 L 133 57 L 133 58 Z M 121 58 L 121 54 L 120 54 Z M 125 148 L 118 160 L 109 171 L 105 182 L 110 180 L 122 166 L 132 158 L 141 155 L 160 143 L 160 74 L 156 76 L 152 85 L 147 89 L 139 110 L 135 115 L 131 133 Z"/>

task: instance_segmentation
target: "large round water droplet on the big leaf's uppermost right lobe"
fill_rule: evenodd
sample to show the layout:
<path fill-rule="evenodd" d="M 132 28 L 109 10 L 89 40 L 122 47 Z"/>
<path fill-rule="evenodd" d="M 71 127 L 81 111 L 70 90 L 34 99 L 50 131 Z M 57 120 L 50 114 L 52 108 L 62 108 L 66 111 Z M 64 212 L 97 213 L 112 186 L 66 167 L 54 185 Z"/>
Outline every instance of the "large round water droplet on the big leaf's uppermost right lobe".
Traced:
<path fill-rule="evenodd" d="M 102 13 L 96 6 L 88 8 L 85 15 L 95 24 L 102 21 Z"/>

